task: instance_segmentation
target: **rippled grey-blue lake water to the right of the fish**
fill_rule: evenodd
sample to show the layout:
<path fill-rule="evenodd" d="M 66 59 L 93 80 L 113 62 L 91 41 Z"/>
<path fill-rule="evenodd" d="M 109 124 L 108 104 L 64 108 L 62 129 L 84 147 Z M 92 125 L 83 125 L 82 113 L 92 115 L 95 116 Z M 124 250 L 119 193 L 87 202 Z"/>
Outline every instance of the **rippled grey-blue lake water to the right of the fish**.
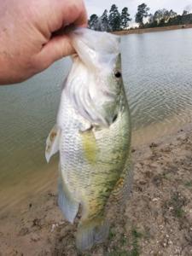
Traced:
<path fill-rule="evenodd" d="M 191 29 L 123 37 L 124 79 L 135 131 L 162 122 L 162 136 L 172 116 L 174 126 L 191 121 L 191 40 Z M 142 141 L 146 136 L 139 134 Z"/>

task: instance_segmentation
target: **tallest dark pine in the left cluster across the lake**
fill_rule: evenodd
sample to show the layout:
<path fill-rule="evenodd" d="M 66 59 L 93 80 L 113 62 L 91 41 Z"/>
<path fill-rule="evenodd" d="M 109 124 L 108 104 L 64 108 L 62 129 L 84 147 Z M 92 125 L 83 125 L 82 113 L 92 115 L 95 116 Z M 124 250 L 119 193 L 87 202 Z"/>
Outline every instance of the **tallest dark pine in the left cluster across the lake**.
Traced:
<path fill-rule="evenodd" d="M 120 30 L 120 14 L 118 7 L 113 4 L 108 16 L 108 23 L 111 31 L 118 31 Z"/>

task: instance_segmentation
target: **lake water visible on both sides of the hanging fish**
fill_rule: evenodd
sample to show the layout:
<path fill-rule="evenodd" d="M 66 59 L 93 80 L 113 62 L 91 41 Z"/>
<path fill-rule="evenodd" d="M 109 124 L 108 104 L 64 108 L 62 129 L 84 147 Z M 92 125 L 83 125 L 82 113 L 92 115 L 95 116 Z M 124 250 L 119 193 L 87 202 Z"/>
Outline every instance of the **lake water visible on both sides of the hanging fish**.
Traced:
<path fill-rule="evenodd" d="M 122 38 L 133 145 L 192 121 L 191 45 L 192 29 Z M 0 211 L 56 181 L 57 159 L 46 164 L 44 144 L 70 65 L 69 59 L 58 61 L 25 83 L 0 87 Z"/>

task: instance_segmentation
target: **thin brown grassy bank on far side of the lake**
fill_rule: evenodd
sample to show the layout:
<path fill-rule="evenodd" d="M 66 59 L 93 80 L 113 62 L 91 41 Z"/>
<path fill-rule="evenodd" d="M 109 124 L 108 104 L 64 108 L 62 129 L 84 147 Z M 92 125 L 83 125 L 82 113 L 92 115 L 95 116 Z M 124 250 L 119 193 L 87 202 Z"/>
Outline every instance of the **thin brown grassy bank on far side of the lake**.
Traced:
<path fill-rule="evenodd" d="M 160 26 L 160 27 L 151 27 L 151 28 L 135 28 L 124 31 L 113 32 L 117 35 L 129 35 L 129 34 L 142 34 L 146 32 L 161 32 L 161 31 L 169 31 L 169 30 L 177 30 L 177 29 L 186 29 L 192 28 L 192 24 L 186 25 L 175 25 L 175 26 Z"/>

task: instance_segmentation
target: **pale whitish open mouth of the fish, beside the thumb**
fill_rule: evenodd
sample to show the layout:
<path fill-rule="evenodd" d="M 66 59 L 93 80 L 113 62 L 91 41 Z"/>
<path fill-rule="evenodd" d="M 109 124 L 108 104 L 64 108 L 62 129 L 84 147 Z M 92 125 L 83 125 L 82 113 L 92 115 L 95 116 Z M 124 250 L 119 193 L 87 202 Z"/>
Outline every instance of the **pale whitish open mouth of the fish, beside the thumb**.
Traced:
<path fill-rule="evenodd" d="M 96 35 L 98 36 L 96 37 Z M 108 67 L 110 63 L 113 65 L 113 61 L 119 55 L 120 37 L 117 35 L 79 27 L 70 32 L 69 36 L 73 48 L 87 67 L 96 69 L 101 65 Z"/>

